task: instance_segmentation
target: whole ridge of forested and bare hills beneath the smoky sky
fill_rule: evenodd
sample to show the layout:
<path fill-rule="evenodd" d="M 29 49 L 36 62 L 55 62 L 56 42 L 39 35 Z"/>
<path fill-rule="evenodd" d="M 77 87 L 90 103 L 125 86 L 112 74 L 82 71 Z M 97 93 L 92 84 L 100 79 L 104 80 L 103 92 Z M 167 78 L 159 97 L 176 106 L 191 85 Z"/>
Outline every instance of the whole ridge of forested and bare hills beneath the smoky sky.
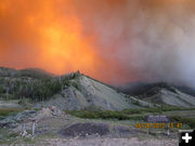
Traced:
<path fill-rule="evenodd" d="M 36 108 L 55 105 L 68 110 L 122 110 L 164 104 L 186 108 L 195 106 L 195 97 L 166 82 L 135 85 L 141 94 L 131 95 L 80 71 L 53 76 L 41 69 L 0 68 L 0 98 L 29 98 Z"/>

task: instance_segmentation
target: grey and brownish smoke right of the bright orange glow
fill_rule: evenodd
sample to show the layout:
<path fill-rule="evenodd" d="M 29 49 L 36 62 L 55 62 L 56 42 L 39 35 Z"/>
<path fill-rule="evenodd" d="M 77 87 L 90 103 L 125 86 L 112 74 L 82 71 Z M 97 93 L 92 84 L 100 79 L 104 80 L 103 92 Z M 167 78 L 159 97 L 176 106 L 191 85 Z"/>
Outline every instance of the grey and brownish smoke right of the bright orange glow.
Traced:
<path fill-rule="evenodd" d="M 127 82 L 135 78 L 195 87 L 193 4 L 192 0 L 78 0 L 76 10 L 87 26 L 83 35 L 98 36 L 99 51 L 119 62 Z"/>

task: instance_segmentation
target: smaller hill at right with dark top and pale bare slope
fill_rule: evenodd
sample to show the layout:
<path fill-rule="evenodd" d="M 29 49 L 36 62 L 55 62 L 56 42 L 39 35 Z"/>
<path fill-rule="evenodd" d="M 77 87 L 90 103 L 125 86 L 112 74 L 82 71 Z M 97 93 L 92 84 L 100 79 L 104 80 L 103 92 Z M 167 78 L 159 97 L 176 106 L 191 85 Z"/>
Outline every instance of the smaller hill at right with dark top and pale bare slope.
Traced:
<path fill-rule="evenodd" d="M 140 88 L 140 91 L 136 88 L 129 90 L 128 88 L 126 88 L 126 93 L 128 93 L 128 91 L 129 94 L 136 93 L 136 96 L 140 99 L 151 103 L 166 104 L 186 108 L 195 107 L 195 97 L 193 95 L 181 92 L 173 85 L 165 82 L 142 85 L 142 88 Z"/>

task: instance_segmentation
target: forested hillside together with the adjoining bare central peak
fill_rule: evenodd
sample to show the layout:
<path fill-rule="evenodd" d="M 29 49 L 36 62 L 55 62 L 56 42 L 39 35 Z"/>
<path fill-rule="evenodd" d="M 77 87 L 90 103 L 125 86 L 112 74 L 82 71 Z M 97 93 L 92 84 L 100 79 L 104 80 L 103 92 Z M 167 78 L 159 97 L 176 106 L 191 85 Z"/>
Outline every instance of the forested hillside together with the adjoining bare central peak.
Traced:
<path fill-rule="evenodd" d="M 30 99 L 35 108 L 54 105 L 68 110 L 154 107 L 153 104 L 127 96 L 79 71 L 56 77 L 39 69 L 1 68 L 0 98 L 18 99 L 22 104 Z"/>

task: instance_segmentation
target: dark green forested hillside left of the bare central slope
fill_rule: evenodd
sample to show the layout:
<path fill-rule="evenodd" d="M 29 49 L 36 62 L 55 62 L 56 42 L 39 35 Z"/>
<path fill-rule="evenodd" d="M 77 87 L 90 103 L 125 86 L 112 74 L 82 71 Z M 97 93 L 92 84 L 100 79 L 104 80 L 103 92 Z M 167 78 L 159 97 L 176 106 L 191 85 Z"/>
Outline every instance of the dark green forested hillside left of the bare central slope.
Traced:
<path fill-rule="evenodd" d="M 55 77 L 38 69 L 0 68 L 0 98 L 44 101 L 69 85 L 69 80 L 77 76 Z"/>

